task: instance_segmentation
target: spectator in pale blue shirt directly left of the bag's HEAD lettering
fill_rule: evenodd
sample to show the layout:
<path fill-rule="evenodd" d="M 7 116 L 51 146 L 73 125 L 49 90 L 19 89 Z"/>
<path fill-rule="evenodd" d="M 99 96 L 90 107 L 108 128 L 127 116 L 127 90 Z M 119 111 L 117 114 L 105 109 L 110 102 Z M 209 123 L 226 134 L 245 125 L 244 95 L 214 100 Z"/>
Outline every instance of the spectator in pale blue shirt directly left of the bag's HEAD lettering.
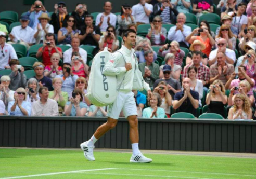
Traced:
<path fill-rule="evenodd" d="M 78 75 L 74 75 L 72 71 L 72 66 L 70 63 L 63 63 L 62 64 L 62 75 L 57 75 L 55 78 L 62 78 L 62 88 L 61 91 L 67 92 L 68 94 L 71 94 L 71 92 L 75 88 L 75 81 L 78 79 Z"/>

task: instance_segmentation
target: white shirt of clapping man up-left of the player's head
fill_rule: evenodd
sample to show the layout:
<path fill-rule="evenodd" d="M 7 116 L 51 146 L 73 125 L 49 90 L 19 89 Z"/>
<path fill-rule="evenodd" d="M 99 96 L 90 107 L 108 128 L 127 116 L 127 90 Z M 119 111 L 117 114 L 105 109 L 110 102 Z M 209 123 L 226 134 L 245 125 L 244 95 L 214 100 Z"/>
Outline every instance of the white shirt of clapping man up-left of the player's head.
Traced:
<path fill-rule="evenodd" d="M 114 15 L 113 13 L 110 13 L 109 15 L 105 16 L 105 13 L 99 13 L 96 17 L 96 22 L 95 25 L 98 26 L 100 23 L 100 18 L 101 16 L 104 17 L 103 23 L 100 26 L 100 31 L 101 32 L 106 32 L 108 28 L 108 17 L 110 17 L 110 24 L 113 25 L 116 28 L 116 23 L 117 23 L 117 16 Z"/>

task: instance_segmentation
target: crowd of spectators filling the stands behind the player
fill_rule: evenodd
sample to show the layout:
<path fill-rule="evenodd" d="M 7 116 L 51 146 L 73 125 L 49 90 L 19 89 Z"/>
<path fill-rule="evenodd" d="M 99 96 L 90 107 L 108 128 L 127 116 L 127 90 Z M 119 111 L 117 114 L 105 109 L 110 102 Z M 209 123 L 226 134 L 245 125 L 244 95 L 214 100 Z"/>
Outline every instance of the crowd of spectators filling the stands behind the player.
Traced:
<path fill-rule="evenodd" d="M 0 115 L 106 116 L 108 106 L 94 106 L 85 97 L 91 67 L 81 45 L 93 47 L 93 55 L 105 47 L 115 52 L 124 30 L 149 24 L 134 50 L 153 96 L 147 100 L 133 90 L 138 117 L 169 118 L 173 111 L 198 116 L 207 106 L 206 113 L 224 118 L 256 119 L 256 1 L 247 3 L 221 0 L 220 26 L 211 31 L 199 18 L 213 13 L 212 0 L 138 0 L 124 3 L 118 15 L 107 1 L 96 19 L 83 3 L 69 12 L 61 1 L 49 13 L 35 1 L 11 32 L 0 24 L 0 71 L 11 70 L 0 78 Z M 195 13 L 198 27 L 186 23 L 188 13 Z M 27 50 L 42 45 L 33 78 L 24 74 L 13 44 Z M 61 45 L 70 48 L 62 51 Z"/>

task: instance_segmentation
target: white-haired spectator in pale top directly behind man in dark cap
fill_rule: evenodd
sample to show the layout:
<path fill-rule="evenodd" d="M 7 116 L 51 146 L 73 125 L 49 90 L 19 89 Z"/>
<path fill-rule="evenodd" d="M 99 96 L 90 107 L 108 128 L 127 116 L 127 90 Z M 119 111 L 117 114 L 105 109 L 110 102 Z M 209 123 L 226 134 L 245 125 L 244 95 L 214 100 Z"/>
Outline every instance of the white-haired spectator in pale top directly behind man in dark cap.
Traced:
<path fill-rule="evenodd" d="M 175 61 L 175 55 L 173 53 L 167 53 L 164 57 L 164 65 L 171 66 L 171 78 L 178 80 L 180 82 L 180 75 L 182 72 L 182 67 L 180 65 L 174 64 Z M 163 67 L 164 65 L 161 65 L 159 68 L 159 78 L 163 78 Z"/>

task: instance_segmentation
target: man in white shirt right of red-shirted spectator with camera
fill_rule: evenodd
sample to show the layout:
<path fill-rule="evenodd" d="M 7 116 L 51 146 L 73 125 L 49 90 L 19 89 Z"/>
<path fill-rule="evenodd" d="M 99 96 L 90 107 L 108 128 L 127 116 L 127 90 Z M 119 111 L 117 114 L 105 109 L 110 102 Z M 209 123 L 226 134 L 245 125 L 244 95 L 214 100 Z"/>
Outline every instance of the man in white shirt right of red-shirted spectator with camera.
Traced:
<path fill-rule="evenodd" d="M 87 62 L 87 51 L 80 48 L 80 40 L 78 37 L 73 37 L 71 41 L 72 48 L 66 50 L 63 53 L 63 63 L 70 63 L 71 64 L 71 56 L 72 52 L 79 52 L 81 58 L 84 60 L 84 64 Z"/>

